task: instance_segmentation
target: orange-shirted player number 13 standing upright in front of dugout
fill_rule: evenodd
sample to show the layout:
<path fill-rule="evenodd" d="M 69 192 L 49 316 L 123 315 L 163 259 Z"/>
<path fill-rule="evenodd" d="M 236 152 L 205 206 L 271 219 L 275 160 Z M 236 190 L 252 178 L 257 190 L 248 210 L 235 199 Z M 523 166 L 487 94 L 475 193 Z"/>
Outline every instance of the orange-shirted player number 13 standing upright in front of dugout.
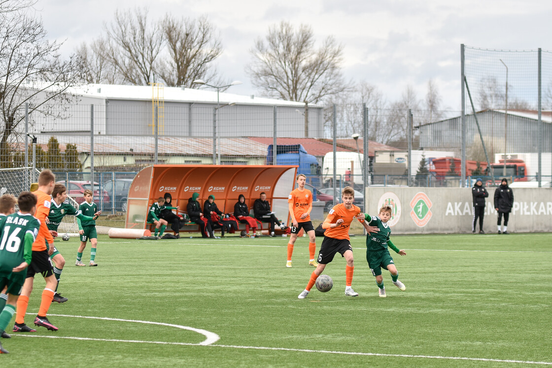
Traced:
<path fill-rule="evenodd" d="M 310 220 L 310 212 L 312 211 L 312 193 L 305 189 L 307 177 L 299 174 L 295 178 L 298 188 L 291 191 L 288 197 L 289 214 L 291 216 L 291 238 L 288 243 L 288 261 L 286 267 L 291 267 L 291 255 L 293 254 L 293 245 L 297 240 L 297 234 L 304 230 L 309 235 L 309 265 L 318 266 L 314 260 L 316 251 L 316 236 L 314 234 L 314 226 Z"/>

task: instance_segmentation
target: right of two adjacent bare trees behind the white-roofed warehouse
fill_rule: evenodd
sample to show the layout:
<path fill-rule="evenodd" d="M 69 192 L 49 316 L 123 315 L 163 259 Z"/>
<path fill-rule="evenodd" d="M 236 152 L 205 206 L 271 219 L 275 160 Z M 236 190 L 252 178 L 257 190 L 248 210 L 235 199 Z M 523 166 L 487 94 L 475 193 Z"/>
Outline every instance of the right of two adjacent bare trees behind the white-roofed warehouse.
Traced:
<path fill-rule="evenodd" d="M 197 79 L 216 77 L 212 62 L 222 53 L 220 36 L 206 17 L 175 19 L 167 14 L 161 23 L 167 57 L 159 62 L 158 75 L 167 86 L 197 87 Z"/>

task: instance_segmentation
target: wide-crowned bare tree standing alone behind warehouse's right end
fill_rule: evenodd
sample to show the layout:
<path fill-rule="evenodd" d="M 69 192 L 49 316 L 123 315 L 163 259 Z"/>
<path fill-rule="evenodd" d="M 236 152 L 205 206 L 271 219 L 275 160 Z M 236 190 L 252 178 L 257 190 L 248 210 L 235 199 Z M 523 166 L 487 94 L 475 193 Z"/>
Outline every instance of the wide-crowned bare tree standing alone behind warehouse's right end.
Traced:
<path fill-rule="evenodd" d="M 343 46 L 328 36 L 315 50 L 312 29 L 298 30 L 287 22 L 268 29 L 266 43 L 258 39 L 246 71 L 268 97 L 317 103 L 347 90 L 341 73 Z"/>

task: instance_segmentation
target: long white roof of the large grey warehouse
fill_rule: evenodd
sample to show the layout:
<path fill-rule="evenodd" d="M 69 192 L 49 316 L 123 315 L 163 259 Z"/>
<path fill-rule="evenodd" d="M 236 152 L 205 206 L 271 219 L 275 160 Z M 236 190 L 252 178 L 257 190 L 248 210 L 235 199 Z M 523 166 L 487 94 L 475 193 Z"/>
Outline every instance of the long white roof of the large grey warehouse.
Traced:
<path fill-rule="evenodd" d="M 216 103 L 217 93 L 214 88 L 205 87 L 201 89 L 184 88 L 184 87 L 163 87 L 162 90 L 157 90 L 154 86 L 126 86 L 126 85 L 104 85 L 104 84 L 89 84 L 68 88 L 67 92 L 77 94 L 78 96 L 86 96 L 102 99 L 132 99 L 137 101 L 152 101 L 153 96 L 160 96 L 164 102 L 200 102 L 200 103 Z M 293 106 L 304 107 L 304 102 L 284 101 L 280 99 L 242 96 L 234 93 L 219 93 L 220 104 L 238 103 L 252 105 L 269 105 L 269 106 Z M 311 108 L 321 107 L 310 105 Z"/>

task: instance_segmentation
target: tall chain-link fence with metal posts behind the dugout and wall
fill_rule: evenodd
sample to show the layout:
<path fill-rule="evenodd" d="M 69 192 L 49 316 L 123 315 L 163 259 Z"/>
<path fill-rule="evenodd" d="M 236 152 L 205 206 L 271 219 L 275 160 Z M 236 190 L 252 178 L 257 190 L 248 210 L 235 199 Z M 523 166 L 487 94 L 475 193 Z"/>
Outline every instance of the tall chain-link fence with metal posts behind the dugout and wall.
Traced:
<path fill-rule="evenodd" d="M 297 165 L 326 211 L 347 185 L 362 207 L 367 186 L 469 187 L 472 177 L 550 186 L 552 54 L 461 50 L 462 111 L 233 102 L 225 93 L 189 101 L 174 94 L 181 88 L 152 99 L 127 90 L 150 87 L 130 86 L 108 98 L 98 88 L 75 104 L 17 111 L 0 166 L 51 169 L 77 202 L 93 189 L 111 223 L 132 178 L 153 164 Z"/>

